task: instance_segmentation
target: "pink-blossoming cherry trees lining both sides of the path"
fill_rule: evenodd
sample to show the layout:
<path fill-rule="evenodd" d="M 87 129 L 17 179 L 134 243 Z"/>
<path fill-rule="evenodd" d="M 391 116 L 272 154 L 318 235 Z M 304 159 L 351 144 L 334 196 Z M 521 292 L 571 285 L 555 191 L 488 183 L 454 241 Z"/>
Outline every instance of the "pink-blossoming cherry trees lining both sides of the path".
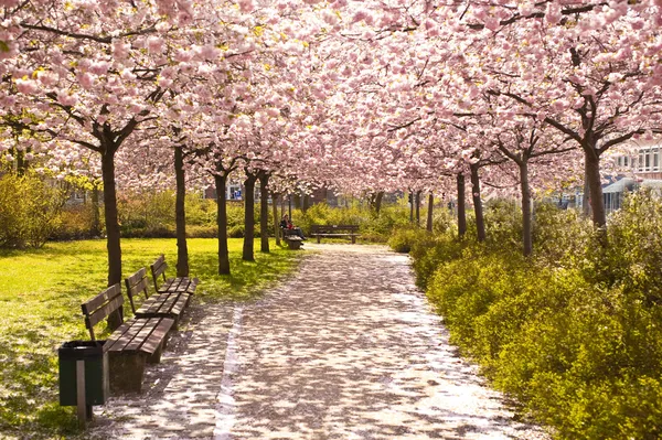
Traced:
<path fill-rule="evenodd" d="M 532 191 L 585 182 L 604 228 L 604 157 L 659 131 L 659 3 L 4 1 L 0 152 L 102 179 L 109 283 L 118 185 L 177 186 L 180 275 L 185 187 L 214 185 L 227 273 L 237 173 L 247 195 L 456 193 L 460 235 L 470 181 L 481 239 L 481 184 L 519 193 L 528 255 Z"/>

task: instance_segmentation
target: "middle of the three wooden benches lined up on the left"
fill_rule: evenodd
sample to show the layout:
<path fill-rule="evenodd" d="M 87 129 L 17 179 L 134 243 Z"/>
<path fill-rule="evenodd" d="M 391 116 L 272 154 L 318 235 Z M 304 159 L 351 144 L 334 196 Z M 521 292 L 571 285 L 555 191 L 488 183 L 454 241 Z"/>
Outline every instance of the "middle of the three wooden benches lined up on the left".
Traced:
<path fill-rule="evenodd" d="M 149 282 L 147 280 L 147 270 L 141 268 L 129 278 L 125 279 L 131 310 L 136 318 L 171 318 L 174 320 L 174 329 L 178 328 L 180 318 L 189 305 L 192 293 L 184 290 L 172 290 L 157 292 L 149 296 Z M 145 293 L 145 301 L 138 310 L 134 299 Z"/>

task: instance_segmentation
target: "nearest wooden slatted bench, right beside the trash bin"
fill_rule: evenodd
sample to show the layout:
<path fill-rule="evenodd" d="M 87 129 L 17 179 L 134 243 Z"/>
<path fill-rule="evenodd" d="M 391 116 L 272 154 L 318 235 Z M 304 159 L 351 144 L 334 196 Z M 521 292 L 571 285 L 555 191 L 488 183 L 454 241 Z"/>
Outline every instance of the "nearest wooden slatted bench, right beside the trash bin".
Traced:
<path fill-rule="evenodd" d="M 108 353 L 110 390 L 140 393 L 145 365 L 161 361 L 161 353 L 166 348 L 168 333 L 173 328 L 174 320 L 170 318 L 136 318 L 124 321 L 122 304 L 124 296 L 117 283 L 84 302 L 81 308 L 92 341 L 96 341 L 94 325 L 119 310 L 122 322 L 104 344 L 104 352 Z"/>

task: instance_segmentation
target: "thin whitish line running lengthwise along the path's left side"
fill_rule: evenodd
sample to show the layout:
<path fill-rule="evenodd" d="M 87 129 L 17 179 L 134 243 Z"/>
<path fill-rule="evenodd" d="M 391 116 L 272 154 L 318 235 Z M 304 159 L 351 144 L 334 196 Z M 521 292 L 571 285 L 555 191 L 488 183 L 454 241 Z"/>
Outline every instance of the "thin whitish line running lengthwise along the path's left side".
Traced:
<path fill-rule="evenodd" d="M 239 366 L 237 359 L 237 339 L 242 332 L 242 313 L 243 308 L 236 305 L 232 320 L 232 330 L 227 334 L 227 347 L 225 348 L 225 361 L 223 362 L 223 378 L 221 379 L 221 390 L 216 397 L 214 440 L 229 440 L 232 428 L 236 421 L 232 375 L 237 372 Z"/>

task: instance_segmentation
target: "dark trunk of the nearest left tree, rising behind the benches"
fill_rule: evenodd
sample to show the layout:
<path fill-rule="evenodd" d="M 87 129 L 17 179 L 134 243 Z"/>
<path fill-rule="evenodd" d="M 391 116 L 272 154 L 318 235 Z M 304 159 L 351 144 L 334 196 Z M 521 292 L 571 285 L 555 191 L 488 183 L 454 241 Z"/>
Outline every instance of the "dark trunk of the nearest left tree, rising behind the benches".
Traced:
<path fill-rule="evenodd" d="M 115 151 L 106 147 L 102 153 L 102 179 L 104 181 L 104 213 L 106 215 L 106 248 L 108 249 L 108 287 L 121 283 L 121 247 L 119 244 L 119 221 L 117 215 L 117 187 L 115 185 Z M 121 310 L 121 309 L 120 309 Z M 119 310 L 108 315 L 110 330 L 122 321 Z"/>

